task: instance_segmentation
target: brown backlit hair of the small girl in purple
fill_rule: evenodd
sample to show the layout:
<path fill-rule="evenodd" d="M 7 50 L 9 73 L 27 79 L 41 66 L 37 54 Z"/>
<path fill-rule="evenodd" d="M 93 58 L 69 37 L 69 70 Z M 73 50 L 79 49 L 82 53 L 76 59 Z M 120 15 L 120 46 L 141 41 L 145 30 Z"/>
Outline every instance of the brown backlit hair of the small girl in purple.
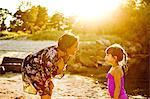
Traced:
<path fill-rule="evenodd" d="M 128 56 L 123 47 L 119 44 L 113 44 L 105 50 L 105 53 L 111 54 L 112 56 L 117 56 L 117 62 L 119 63 L 120 66 L 122 66 L 123 72 L 126 74 L 126 72 L 128 71 L 127 67 Z"/>

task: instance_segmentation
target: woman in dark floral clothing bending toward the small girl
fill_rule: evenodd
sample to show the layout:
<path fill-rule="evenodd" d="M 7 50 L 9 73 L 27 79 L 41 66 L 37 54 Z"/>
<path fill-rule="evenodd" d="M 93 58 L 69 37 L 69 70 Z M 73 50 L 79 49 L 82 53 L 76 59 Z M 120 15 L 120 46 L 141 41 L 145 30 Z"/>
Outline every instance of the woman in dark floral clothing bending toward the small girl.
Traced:
<path fill-rule="evenodd" d="M 77 48 L 78 38 L 70 33 L 60 37 L 58 45 L 28 55 L 22 65 L 24 91 L 38 93 L 41 99 L 51 99 L 52 78 L 63 73 L 69 57 Z"/>

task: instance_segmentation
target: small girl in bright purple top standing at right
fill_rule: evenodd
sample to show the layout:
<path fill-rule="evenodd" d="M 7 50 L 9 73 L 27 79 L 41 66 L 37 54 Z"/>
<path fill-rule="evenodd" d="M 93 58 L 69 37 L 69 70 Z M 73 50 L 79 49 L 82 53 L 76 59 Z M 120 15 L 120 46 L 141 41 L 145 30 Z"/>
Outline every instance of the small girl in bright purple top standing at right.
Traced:
<path fill-rule="evenodd" d="M 105 61 L 112 66 L 107 74 L 109 95 L 113 99 L 128 99 L 124 89 L 124 67 L 122 68 L 123 61 L 126 63 L 127 54 L 119 44 L 109 46 L 105 53 Z"/>

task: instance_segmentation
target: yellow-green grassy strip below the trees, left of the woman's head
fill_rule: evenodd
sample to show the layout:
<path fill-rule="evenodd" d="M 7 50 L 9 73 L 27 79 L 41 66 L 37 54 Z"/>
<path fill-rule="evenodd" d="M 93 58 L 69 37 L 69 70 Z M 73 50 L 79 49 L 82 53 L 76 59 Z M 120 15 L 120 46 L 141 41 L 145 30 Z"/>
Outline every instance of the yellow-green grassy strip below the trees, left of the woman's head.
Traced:
<path fill-rule="evenodd" d="M 7 32 L 2 31 L 0 32 L 0 40 L 58 40 L 58 38 L 63 34 L 62 31 L 39 31 L 33 34 L 26 33 L 26 32 Z"/>

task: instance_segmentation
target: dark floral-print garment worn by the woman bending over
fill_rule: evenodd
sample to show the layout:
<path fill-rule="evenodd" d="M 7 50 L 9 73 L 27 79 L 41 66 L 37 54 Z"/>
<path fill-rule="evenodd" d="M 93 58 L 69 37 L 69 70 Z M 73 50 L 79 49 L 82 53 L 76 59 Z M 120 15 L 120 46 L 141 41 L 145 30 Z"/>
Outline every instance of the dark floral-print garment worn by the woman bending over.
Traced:
<path fill-rule="evenodd" d="M 56 46 L 47 47 L 41 51 L 28 55 L 22 65 L 22 79 L 24 83 L 24 91 L 32 86 L 35 88 L 35 93 L 39 95 L 51 95 L 53 83 L 51 78 L 57 75 L 58 66 L 54 63 L 58 61 L 58 52 Z M 27 91 L 26 91 L 27 92 Z"/>

